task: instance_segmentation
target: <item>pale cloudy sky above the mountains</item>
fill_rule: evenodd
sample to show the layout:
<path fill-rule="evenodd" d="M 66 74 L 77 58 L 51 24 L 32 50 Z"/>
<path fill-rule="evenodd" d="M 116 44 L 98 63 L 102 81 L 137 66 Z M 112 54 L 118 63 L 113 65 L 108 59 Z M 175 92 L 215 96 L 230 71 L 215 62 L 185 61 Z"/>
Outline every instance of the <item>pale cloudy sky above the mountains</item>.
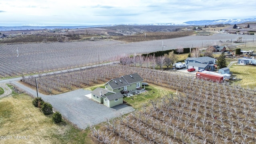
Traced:
<path fill-rule="evenodd" d="M 256 0 L 0 0 L 0 26 L 92 26 L 256 18 Z"/>

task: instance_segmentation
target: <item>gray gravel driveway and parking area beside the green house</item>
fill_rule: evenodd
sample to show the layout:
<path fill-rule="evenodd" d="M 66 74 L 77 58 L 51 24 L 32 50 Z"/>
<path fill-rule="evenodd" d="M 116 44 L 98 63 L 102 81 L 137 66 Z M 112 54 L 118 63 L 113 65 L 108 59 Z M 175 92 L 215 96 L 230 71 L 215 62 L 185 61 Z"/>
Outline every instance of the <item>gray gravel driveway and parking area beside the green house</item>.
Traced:
<path fill-rule="evenodd" d="M 33 96 L 36 96 L 35 90 L 32 90 L 18 82 L 13 83 Z M 89 90 L 78 89 L 63 94 L 38 94 L 38 96 L 42 97 L 45 102 L 52 104 L 54 109 L 59 111 L 62 116 L 81 129 L 104 122 L 106 121 L 106 118 L 114 118 L 134 110 L 131 106 L 127 106 L 126 104 L 120 104 L 118 106 L 108 108 L 107 106 L 99 104 L 85 96 L 89 93 Z"/>

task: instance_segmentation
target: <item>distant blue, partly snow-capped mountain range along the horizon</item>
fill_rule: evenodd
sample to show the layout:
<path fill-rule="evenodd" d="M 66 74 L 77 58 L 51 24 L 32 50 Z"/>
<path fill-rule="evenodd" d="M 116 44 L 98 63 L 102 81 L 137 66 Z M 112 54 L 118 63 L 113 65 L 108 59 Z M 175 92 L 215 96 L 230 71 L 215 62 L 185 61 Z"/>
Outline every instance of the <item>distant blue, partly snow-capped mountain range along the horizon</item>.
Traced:
<path fill-rule="evenodd" d="M 10 31 L 10 30 L 54 30 L 54 29 L 80 29 L 80 28 L 95 28 L 104 26 L 118 26 L 118 25 L 129 25 L 129 26 L 204 26 L 204 25 L 214 25 L 214 24 L 241 24 L 244 22 L 256 22 L 256 18 L 246 18 L 246 19 L 230 19 L 230 20 L 198 20 L 198 21 L 188 21 L 182 23 L 166 23 L 166 24 L 113 24 L 113 25 L 95 25 L 95 26 L 0 26 L 0 31 Z"/>

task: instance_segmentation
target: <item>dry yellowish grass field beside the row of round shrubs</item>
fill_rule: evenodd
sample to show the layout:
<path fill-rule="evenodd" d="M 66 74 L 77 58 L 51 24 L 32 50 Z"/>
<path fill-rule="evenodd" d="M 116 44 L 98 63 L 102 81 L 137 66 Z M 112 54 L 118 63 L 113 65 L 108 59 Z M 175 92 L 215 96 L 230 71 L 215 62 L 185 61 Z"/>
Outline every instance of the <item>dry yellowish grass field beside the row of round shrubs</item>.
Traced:
<path fill-rule="evenodd" d="M 90 130 L 79 130 L 64 121 L 54 124 L 32 105 L 27 94 L 15 94 L 0 98 L 1 144 L 93 144 Z M 17 136 L 22 136 L 17 139 Z"/>

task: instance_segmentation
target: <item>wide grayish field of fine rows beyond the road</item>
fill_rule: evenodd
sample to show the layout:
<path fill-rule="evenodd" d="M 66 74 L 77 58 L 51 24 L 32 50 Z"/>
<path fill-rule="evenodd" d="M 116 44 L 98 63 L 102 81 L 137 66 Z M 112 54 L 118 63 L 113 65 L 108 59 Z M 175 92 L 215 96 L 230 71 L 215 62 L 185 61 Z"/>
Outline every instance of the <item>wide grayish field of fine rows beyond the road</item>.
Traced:
<path fill-rule="evenodd" d="M 0 78 L 98 64 L 98 61 L 102 63 L 119 60 L 121 56 L 130 54 L 144 54 L 178 47 L 202 48 L 205 44 L 221 45 L 223 43 L 219 43 L 220 40 L 225 42 L 237 39 L 239 36 L 236 34 L 193 35 L 133 43 L 95 40 L 0 45 Z M 242 35 L 242 37 L 246 38 L 247 42 L 253 39 L 250 35 Z"/>

